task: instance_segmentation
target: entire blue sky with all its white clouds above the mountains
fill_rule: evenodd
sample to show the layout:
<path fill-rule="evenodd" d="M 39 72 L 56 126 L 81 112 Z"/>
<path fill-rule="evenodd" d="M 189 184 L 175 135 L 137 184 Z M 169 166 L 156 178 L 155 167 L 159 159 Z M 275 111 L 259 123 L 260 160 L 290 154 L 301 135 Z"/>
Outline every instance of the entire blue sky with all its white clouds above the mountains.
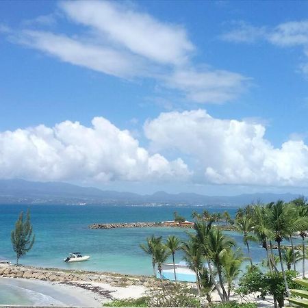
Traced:
<path fill-rule="evenodd" d="M 308 194 L 307 1 L 0 1 L 0 178 Z"/>

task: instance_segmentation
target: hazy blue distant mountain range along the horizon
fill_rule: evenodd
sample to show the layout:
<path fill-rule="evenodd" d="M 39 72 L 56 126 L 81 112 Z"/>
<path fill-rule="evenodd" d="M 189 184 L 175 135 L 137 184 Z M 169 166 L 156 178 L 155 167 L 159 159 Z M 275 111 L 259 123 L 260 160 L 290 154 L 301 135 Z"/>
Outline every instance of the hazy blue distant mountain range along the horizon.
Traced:
<path fill-rule="evenodd" d="M 22 179 L 0 180 L 0 204 L 93 204 L 93 205 L 225 205 L 242 206 L 251 202 L 291 201 L 297 194 L 240 194 L 238 196 L 205 196 L 194 193 L 134 194 L 99 190 L 62 182 L 33 182 Z"/>

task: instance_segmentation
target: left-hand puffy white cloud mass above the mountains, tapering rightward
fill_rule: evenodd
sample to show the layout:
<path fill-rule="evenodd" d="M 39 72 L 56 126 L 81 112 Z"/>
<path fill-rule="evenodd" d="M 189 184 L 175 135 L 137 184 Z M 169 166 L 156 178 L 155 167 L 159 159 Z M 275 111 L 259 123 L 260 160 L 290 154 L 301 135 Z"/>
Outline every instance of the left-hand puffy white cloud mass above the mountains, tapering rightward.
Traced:
<path fill-rule="evenodd" d="M 185 181 L 181 159 L 150 155 L 105 118 L 0 133 L 0 177 L 35 180 Z"/>

